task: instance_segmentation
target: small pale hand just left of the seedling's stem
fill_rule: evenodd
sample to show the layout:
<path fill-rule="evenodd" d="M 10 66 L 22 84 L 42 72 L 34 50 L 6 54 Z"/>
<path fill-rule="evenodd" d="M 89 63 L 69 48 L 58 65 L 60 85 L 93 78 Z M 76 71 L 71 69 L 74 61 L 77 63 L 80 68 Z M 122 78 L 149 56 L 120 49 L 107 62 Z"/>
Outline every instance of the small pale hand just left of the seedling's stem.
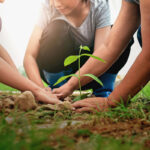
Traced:
<path fill-rule="evenodd" d="M 58 98 L 63 99 L 72 94 L 73 91 L 74 89 L 66 83 L 59 88 L 53 89 L 52 93 L 55 94 Z"/>

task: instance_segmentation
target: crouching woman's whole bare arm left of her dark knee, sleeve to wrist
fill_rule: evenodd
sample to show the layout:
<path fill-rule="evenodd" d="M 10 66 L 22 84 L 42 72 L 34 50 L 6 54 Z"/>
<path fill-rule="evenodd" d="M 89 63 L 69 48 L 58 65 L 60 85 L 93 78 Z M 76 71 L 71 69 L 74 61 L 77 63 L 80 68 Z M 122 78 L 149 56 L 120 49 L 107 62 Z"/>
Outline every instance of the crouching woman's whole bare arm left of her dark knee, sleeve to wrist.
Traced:
<path fill-rule="evenodd" d="M 36 58 L 39 51 L 39 40 L 41 38 L 41 34 L 42 34 L 41 28 L 35 26 L 25 53 L 24 67 L 29 79 L 32 80 L 37 85 L 39 85 L 40 87 L 44 88 L 36 62 Z"/>

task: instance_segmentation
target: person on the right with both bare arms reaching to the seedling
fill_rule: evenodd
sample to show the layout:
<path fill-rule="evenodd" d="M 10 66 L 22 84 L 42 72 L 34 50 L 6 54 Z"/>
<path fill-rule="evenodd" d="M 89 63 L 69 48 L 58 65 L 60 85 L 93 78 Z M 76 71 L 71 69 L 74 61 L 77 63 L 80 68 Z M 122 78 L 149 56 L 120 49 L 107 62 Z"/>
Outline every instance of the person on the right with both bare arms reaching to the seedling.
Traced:
<path fill-rule="evenodd" d="M 101 110 L 108 107 L 115 107 L 121 100 L 126 103 L 137 92 L 140 91 L 150 80 L 150 1 L 147 0 L 123 0 L 122 8 L 112 28 L 107 42 L 101 47 L 101 54 L 95 52 L 96 56 L 101 56 L 108 63 L 102 65 L 95 60 L 90 59 L 82 68 L 81 73 L 90 72 L 88 69 L 92 66 L 99 66 L 99 70 L 93 72 L 101 73 L 106 70 L 122 53 L 126 47 L 130 37 L 135 33 L 141 24 L 142 35 L 142 51 L 136 58 L 132 67 L 126 74 L 123 81 L 118 85 L 114 91 L 107 98 L 89 98 L 73 104 L 78 112 L 92 111 L 93 109 L 101 108 Z M 124 31 L 124 32 L 123 32 Z M 118 40 L 119 38 L 119 40 Z M 115 47 L 114 47 L 115 45 Z M 105 55 L 105 51 L 109 51 L 110 56 Z M 72 83 L 75 83 L 73 81 Z M 85 84 L 87 81 L 82 81 Z M 71 83 L 71 82 L 70 82 Z"/>

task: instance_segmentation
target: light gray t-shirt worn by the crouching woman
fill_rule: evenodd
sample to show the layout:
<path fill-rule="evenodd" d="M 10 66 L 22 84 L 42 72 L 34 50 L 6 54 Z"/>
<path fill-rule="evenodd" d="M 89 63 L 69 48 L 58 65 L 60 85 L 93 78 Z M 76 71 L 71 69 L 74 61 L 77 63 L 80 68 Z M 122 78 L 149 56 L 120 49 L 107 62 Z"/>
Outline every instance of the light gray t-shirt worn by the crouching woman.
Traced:
<path fill-rule="evenodd" d="M 65 20 L 71 26 L 71 34 L 75 40 L 83 45 L 93 46 L 96 29 L 111 25 L 110 9 L 106 0 L 90 0 L 90 11 L 80 27 L 74 27 L 67 18 L 55 8 L 50 7 L 49 0 L 45 0 L 40 9 L 37 25 L 44 29 L 50 21 Z"/>

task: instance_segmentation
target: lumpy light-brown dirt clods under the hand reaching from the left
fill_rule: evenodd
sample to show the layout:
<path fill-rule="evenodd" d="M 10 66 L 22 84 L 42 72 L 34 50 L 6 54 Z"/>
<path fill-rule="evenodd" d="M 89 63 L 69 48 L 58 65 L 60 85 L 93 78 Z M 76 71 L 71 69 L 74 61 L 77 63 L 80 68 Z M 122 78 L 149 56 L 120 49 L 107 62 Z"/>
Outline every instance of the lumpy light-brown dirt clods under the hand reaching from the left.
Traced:
<path fill-rule="evenodd" d="M 68 97 L 62 104 L 39 104 L 36 102 L 32 92 L 25 91 L 18 95 L 0 93 L 0 111 L 10 113 L 15 107 L 22 111 L 29 110 L 72 110 L 71 99 Z"/>

